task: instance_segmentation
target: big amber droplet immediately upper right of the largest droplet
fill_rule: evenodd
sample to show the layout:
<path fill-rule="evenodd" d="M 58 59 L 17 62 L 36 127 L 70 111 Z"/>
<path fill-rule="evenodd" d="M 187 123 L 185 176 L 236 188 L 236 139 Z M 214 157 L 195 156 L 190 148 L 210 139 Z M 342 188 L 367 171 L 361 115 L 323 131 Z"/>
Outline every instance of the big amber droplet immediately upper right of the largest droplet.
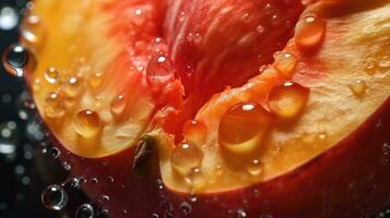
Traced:
<path fill-rule="evenodd" d="M 269 95 L 269 107 L 283 119 L 297 117 L 304 109 L 309 89 L 293 82 L 275 86 Z"/>

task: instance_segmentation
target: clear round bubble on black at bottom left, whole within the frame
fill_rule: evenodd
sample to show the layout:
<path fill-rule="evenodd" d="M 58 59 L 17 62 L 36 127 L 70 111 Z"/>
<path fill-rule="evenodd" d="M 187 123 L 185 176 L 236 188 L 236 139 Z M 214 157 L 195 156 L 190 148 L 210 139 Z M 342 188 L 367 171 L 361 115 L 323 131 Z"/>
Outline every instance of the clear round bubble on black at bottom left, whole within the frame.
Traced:
<path fill-rule="evenodd" d="M 44 190 L 40 199 L 46 208 L 61 210 L 68 204 L 68 193 L 62 186 L 52 184 Z"/>

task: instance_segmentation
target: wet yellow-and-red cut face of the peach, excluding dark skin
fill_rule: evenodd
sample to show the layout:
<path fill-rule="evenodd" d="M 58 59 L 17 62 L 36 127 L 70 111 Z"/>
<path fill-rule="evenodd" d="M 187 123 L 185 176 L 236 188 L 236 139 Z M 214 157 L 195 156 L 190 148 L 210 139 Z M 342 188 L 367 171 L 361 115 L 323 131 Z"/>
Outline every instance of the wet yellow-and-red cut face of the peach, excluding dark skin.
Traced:
<path fill-rule="evenodd" d="M 332 149 L 388 101 L 389 2 L 348 5 L 40 0 L 38 41 L 23 40 L 38 60 L 27 80 L 79 156 L 150 135 L 168 189 L 248 187 Z"/>

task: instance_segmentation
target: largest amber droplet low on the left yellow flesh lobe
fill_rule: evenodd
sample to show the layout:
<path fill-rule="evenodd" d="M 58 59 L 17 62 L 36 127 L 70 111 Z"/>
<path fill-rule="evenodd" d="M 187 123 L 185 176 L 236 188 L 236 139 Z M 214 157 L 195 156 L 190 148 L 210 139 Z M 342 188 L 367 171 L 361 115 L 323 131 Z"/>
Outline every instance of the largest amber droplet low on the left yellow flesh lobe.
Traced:
<path fill-rule="evenodd" d="M 85 138 L 94 138 L 103 128 L 103 123 L 97 112 L 82 110 L 75 117 L 75 131 Z"/>

